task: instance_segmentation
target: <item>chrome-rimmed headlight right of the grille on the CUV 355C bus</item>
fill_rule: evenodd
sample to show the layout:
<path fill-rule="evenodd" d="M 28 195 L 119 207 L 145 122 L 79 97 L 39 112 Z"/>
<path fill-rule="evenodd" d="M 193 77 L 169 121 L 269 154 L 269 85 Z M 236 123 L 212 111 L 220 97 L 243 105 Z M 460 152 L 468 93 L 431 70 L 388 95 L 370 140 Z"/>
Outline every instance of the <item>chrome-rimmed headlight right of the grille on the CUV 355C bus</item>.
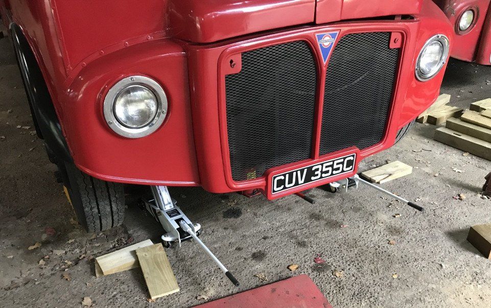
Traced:
<path fill-rule="evenodd" d="M 426 41 L 416 61 L 416 77 L 421 81 L 433 78 L 449 55 L 449 39 L 437 34 Z"/>

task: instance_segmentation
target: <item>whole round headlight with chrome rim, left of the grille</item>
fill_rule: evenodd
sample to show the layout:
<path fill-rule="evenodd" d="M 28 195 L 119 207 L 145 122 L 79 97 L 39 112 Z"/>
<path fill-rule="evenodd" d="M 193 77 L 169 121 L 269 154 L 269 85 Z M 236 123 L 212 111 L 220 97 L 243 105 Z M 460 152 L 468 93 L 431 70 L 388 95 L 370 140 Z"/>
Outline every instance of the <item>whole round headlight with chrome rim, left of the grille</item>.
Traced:
<path fill-rule="evenodd" d="M 140 138 L 153 133 L 166 118 L 167 96 L 154 80 L 131 76 L 107 92 L 104 117 L 117 134 Z"/>

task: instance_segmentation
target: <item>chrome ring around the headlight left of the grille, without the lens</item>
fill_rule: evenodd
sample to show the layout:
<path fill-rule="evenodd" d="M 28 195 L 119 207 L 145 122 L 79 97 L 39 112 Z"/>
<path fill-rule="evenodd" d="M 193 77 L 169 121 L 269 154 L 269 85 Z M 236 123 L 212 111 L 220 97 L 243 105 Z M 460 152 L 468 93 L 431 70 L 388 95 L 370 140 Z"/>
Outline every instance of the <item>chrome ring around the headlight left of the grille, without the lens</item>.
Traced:
<path fill-rule="evenodd" d="M 144 127 L 131 128 L 120 123 L 114 114 L 114 102 L 118 95 L 130 86 L 144 86 L 153 92 L 157 99 L 157 112 L 152 121 Z M 166 119 L 168 101 L 165 91 L 155 80 L 145 76 L 130 76 L 114 84 L 104 98 L 104 118 L 109 127 L 118 135 L 126 138 L 141 138 L 152 134 Z"/>

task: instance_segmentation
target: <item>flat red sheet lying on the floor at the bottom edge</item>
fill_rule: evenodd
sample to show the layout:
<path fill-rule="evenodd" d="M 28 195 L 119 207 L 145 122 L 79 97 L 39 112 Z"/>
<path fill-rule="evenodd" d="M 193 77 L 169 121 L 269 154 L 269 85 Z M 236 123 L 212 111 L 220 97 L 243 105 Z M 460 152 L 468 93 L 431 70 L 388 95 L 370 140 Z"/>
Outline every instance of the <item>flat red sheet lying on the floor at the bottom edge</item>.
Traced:
<path fill-rule="evenodd" d="M 307 275 L 298 275 L 249 291 L 196 306 L 216 307 L 326 307 L 331 304 Z"/>

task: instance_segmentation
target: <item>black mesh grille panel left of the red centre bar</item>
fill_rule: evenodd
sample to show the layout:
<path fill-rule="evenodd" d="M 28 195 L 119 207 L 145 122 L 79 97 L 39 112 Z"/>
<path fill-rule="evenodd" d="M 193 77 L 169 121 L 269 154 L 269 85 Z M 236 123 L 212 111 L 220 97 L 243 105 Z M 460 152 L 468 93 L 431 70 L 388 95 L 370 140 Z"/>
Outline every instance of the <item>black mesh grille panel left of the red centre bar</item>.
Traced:
<path fill-rule="evenodd" d="M 233 180 L 311 157 L 316 79 L 305 41 L 242 54 L 241 72 L 225 77 Z"/>

